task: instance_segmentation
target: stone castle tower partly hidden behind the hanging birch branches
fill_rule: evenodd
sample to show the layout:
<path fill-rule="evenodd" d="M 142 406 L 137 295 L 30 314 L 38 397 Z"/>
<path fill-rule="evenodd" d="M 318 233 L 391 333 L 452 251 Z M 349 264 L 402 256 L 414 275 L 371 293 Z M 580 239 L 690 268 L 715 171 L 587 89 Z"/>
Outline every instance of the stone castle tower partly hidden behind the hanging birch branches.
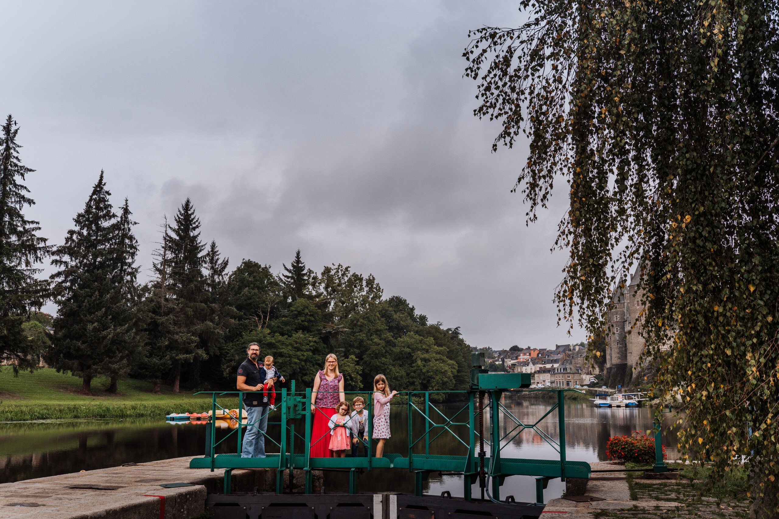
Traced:
<path fill-rule="evenodd" d="M 630 284 L 615 290 L 613 307 L 608 313 L 608 340 L 606 342 L 606 382 L 609 387 L 626 387 L 633 378 L 636 363 L 643 352 L 640 313 L 643 309 L 638 291 L 640 268 L 636 268 Z M 636 322 L 636 319 L 638 320 Z"/>

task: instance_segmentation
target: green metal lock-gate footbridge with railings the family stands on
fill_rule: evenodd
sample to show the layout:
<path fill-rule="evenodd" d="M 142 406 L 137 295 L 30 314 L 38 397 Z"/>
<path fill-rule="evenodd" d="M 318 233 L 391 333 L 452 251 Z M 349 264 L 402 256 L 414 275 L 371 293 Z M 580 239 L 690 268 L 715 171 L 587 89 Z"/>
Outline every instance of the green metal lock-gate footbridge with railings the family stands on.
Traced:
<path fill-rule="evenodd" d="M 229 494 L 231 471 L 237 468 L 277 468 L 276 492 L 284 493 L 284 473 L 289 469 L 290 476 L 294 470 L 305 471 L 305 493 L 312 493 L 312 471 L 339 470 L 349 472 L 349 493 L 357 493 L 358 475 L 373 468 L 399 468 L 414 474 L 414 493 L 422 495 L 423 482 L 432 472 L 463 475 L 463 495 L 465 500 L 471 500 L 471 486 L 480 483 L 481 498 L 484 493 L 491 500 L 500 500 L 500 487 L 510 475 L 534 476 L 536 481 L 536 502 L 544 503 L 543 492 L 550 479 L 566 478 L 589 479 L 590 464 L 584 461 L 566 460 L 566 427 L 565 406 L 563 396 L 570 389 L 526 389 L 530 387 L 529 373 L 488 373 L 483 353 L 472 354 L 471 388 L 469 391 L 402 391 L 407 395 L 407 427 L 408 447 L 404 454 L 384 454 L 382 458 L 373 456 L 372 442 L 368 442 L 368 456 L 365 458 L 312 458 L 309 456 L 309 446 L 319 438 L 312 438 L 311 388 L 305 391 L 295 391 L 294 380 L 290 391 L 280 390 L 280 421 L 273 422 L 280 426 L 280 436 L 273 439 L 266 434 L 266 449 L 278 447 L 278 454 L 267 454 L 266 458 L 241 458 L 241 426 L 237 426 L 227 436 L 217 440 L 216 421 L 211 419 L 206 433 L 206 456 L 193 458 L 190 468 L 210 468 L 224 470 L 224 493 Z M 555 391 L 557 401 L 552 409 L 534 423 L 522 423 L 501 403 L 501 397 L 506 391 Z M 446 392 L 449 395 L 459 393 L 462 407 L 455 409 L 453 416 L 446 416 L 431 403 L 431 396 Z M 217 416 L 217 410 L 226 411 L 217 404 L 217 397 L 237 395 L 242 402 L 240 391 L 213 392 L 212 417 Z M 360 395 L 365 395 L 361 392 Z M 372 437 L 372 393 L 366 398 L 365 412 L 368 412 L 368 438 Z M 434 397 L 435 399 L 435 397 Z M 322 412 L 315 409 L 315 412 Z M 489 425 L 485 430 L 485 414 L 488 413 Z M 241 423 L 242 410 L 238 409 L 238 423 Z M 447 413 L 451 414 L 451 413 Z M 559 437 L 552 438 L 539 424 L 556 415 Z M 330 416 L 327 416 L 330 419 Z M 305 419 L 303 431 L 295 430 L 294 419 Z M 424 423 L 424 432 L 419 426 L 419 420 Z M 508 433 L 502 434 L 503 430 Z M 414 423 L 417 424 L 416 429 Z M 256 424 L 249 423 L 252 427 Z M 402 426 L 393 423 L 393 429 Z M 509 430 L 510 429 L 510 430 Z M 414 430 L 418 437 L 414 438 Z M 524 430 L 534 430 L 559 453 L 559 459 L 522 459 L 502 456 L 502 450 L 518 434 Z M 465 431 L 465 432 L 464 432 Z M 329 432 L 327 433 L 329 434 Z M 235 435 L 238 441 L 238 451 L 235 454 L 216 454 L 217 445 L 228 437 Z M 442 435 L 456 438 L 460 444 L 462 455 L 430 454 L 431 444 Z M 296 448 L 297 447 L 297 448 Z M 488 447 L 488 449 L 485 449 Z M 435 447 L 434 447 L 435 448 Z M 296 453 L 298 451 L 298 453 Z M 299 451 L 302 451 L 300 453 Z M 423 452 L 424 451 L 424 452 Z"/>

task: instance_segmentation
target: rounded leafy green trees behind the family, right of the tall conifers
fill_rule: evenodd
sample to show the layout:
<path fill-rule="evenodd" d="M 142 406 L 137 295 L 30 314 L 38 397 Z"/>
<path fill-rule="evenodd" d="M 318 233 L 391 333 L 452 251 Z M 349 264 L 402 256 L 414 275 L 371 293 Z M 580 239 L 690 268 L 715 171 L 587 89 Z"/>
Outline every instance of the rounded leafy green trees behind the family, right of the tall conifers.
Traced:
<path fill-rule="evenodd" d="M 292 265 L 308 272 L 300 251 Z M 378 373 L 404 390 L 467 387 L 471 349 L 458 329 L 428 324 L 402 297 L 382 300 L 372 275 L 343 265 L 298 279 L 305 279 L 304 285 L 291 290 L 288 280 L 251 260 L 231 273 L 227 286 L 238 315 L 231 349 L 223 356 L 224 377 L 234 375 L 246 345 L 257 342 L 263 357 L 273 356 L 280 372 L 304 387 L 330 352 L 340 359 L 347 391 L 369 391 Z"/>

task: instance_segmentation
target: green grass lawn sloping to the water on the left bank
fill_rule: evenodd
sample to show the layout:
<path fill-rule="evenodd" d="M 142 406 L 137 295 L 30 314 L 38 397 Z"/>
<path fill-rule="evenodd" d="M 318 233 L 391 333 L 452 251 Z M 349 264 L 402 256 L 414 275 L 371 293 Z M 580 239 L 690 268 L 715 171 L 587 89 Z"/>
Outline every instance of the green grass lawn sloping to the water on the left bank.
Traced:
<path fill-rule="evenodd" d="M 108 378 L 92 380 L 93 396 L 79 395 L 81 379 L 51 368 L 19 373 L 0 370 L 0 421 L 60 418 L 159 418 L 171 412 L 203 412 L 211 409 L 211 395 L 174 393 L 161 387 L 152 394 L 144 380 L 119 380 L 118 392 L 108 393 Z M 220 398 L 224 407 L 235 408 L 236 398 Z"/>

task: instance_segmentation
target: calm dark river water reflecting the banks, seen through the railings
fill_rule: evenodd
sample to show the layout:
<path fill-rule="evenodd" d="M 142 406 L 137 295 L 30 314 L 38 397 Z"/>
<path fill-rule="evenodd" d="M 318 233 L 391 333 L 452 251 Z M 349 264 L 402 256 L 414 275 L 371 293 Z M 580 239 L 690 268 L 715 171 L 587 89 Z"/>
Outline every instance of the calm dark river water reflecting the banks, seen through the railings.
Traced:
<path fill-rule="evenodd" d="M 507 396 L 502 404 L 523 423 L 534 423 L 544 416 L 552 403 L 544 400 Z M 442 414 L 453 416 L 459 405 L 440 406 Z M 454 421 L 466 421 L 467 409 Z M 675 432 L 670 428 L 670 415 L 663 429 L 663 443 L 668 448 L 668 458 L 676 458 Z M 278 419 L 271 415 L 271 421 Z M 439 416 L 435 420 L 443 423 Z M 301 423 L 302 425 L 302 423 Z M 485 420 L 485 431 L 488 420 Z M 501 419 L 503 434 L 509 433 L 514 424 Z M 391 415 L 392 438 L 386 452 L 407 454 L 408 422 L 405 405 L 393 405 Z M 549 436 L 558 437 L 557 412 L 552 412 L 539 428 Z M 566 404 L 566 457 L 572 461 L 605 461 L 608 437 L 630 434 L 634 430 L 652 428 L 650 409 L 597 409 L 590 403 Z M 302 427 L 296 427 L 301 431 Z M 439 428 L 439 431 L 441 429 Z M 467 442 L 467 428 L 453 427 L 453 431 Z M 424 433 L 424 422 L 414 413 L 412 421 L 414 440 Z M 516 432 L 516 431 L 515 431 Z M 224 437 L 227 432 L 219 433 Z M 269 426 L 270 437 L 277 438 L 279 426 Z M 435 435 L 432 435 L 435 436 Z M 513 437 L 513 433 L 507 439 Z M 95 468 L 108 468 L 123 463 L 155 461 L 181 456 L 203 456 L 206 428 L 190 423 L 171 424 L 157 419 L 125 420 L 69 420 L 57 422 L 0 423 L 0 482 L 41 478 Z M 477 440 L 478 441 L 478 440 Z M 424 440 L 423 440 L 424 442 Z M 270 442 L 268 442 L 270 444 Z M 421 442 L 422 443 L 422 442 Z M 300 444 L 300 442 L 298 442 Z M 478 444 L 477 444 L 478 446 Z M 235 452 L 234 435 L 217 448 L 219 452 Z M 298 445 L 302 448 L 302 445 Z M 422 447 L 424 450 L 424 447 Z M 488 451 L 488 447 L 485 447 Z M 422 450 L 422 451 L 423 451 Z M 268 448 L 269 452 L 277 449 Z M 299 449 L 296 449 L 299 451 Z M 422 452 L 417 451 L 415 452 Z M 431 444 L 430 454 L 465 454 L 465 447 L 452 434 L 443 433 Z M 525 430 L 502 449 L 504 458 L 559 459 L 553 447 L 546 444 L 534 430 Z M 545 498 L 562 495 L 564 484 L 549 482 Z M 347 489 L 347 477 L 329 473 L 326 490 Z M 384 490 L 413 492 L 414 478 L 401 469 L 374 469 L 361 476 L 358 490 Z M 462 476 L 434 475 L 425 483 L 425 491 L 437 495 L 449 490 L 453 496 L 463 495 Z M 478 483 L 472 492 L 478 496 Z M 528 476 L 511 476 L 501 489 L 501 497 L 513 495 L 517 501 L 535 500 L 535 482 Z"/>

